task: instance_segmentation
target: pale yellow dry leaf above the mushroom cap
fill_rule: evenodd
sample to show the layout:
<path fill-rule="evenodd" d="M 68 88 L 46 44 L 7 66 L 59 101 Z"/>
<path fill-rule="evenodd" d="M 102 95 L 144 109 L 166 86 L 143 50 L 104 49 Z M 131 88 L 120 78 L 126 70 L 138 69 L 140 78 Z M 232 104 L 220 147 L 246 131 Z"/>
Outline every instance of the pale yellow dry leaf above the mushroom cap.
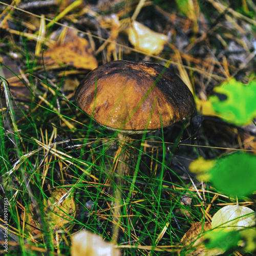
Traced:
<path fill-rule="evenodd" d="M 156 55 L 163 50 L 168 39 L 166 35 L 154 32 L 138 22 L 133 22 L 126 33 L 135 49 Z"/>

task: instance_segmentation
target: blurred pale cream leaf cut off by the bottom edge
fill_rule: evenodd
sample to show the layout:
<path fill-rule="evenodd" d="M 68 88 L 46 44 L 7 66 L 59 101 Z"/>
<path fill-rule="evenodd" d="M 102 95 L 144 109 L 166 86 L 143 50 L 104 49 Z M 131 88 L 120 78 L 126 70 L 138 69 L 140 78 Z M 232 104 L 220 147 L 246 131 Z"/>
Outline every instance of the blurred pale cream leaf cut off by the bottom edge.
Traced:
<path fill-rule="evenodd" d="M 71 256 L 119 256 L 114 243 L 105 242 L 97 234 L 80 231 L 72 237 Z"/>

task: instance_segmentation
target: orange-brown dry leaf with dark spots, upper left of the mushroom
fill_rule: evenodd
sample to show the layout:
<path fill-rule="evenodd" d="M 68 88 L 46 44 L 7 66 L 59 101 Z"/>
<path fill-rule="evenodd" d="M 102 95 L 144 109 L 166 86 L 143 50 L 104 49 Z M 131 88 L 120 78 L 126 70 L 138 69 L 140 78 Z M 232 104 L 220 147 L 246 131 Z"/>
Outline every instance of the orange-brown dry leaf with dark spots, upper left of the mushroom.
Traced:
<path fill-rule="evenodd" d="M 64 29 L 60 38 L 44 52 L 44 58 L 51 58 L 59 65 L 69 65 L 78 69 L 93 70 L 98 67 L 98 62 L 93 56 L 89 42 L 77 35 L 72 29 Z"/>

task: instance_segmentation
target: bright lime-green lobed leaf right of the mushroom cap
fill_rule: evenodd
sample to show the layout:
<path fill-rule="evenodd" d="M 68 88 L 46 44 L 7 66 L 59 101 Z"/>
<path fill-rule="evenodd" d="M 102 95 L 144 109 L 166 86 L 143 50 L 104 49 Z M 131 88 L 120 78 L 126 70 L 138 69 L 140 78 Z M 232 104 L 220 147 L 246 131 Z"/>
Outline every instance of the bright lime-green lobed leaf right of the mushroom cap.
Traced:
<path fill-rule="evenodd" d="M 223 120 L 246 125 L 256 117 L 256 80 L 246 85 L 232 78 L 215 87 L 214 92 L 227 97 L 224 100 L 216 95 L 209 97 L 212 108 Z"/>

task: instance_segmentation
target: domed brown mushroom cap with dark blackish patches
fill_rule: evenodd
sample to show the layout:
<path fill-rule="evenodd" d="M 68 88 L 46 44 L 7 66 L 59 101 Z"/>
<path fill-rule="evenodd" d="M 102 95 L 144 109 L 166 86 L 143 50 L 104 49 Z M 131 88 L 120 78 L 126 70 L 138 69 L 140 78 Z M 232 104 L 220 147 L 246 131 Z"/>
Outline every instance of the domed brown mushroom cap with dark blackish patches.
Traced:
<path fill-rule="evenodd" d="M 108 62 L 81 81 L 75 100 L 96 122 L 122 133 L 155 131 L 195 111 L 186 84 L 168 68 L 151 62 Z"/>

